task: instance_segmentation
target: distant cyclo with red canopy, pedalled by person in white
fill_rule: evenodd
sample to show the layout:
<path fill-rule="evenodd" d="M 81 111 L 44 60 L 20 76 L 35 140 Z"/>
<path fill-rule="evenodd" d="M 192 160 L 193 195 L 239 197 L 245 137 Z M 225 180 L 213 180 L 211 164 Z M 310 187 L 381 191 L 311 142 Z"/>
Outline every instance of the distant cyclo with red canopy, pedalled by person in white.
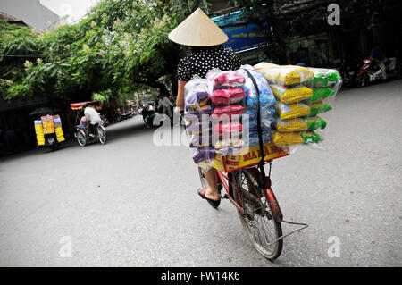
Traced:
<path fill-rule="evenodd" d="M 94 108 L 97 112 L 102 110 L 102 104 L 100 101 L 86 101 L 79 103 L 71 103 L 70 108 L 75 113 L 75 123 L 74 123 L 74 137 L 81 147 L 85 147 L 88 142 L 99 141 L 102 145 L 106 143 L 106 130 L 105 124 L 101 123 L 97 125 L 96 138 L 91 138 L 88 135 L 87 123 L 82 122 L 81 118 L 84 116 L 84 110 L 82 105 L 87 104 L 88 106 Z M 105 122 L 105 117 L 101 115 L 102 120 Z"/>

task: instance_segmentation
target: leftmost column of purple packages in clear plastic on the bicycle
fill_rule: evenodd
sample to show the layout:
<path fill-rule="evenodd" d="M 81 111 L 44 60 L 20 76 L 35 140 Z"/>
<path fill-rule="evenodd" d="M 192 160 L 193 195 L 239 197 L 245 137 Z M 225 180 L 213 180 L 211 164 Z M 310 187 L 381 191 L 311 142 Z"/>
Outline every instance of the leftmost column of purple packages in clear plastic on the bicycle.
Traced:
<path fill-rule="evenodd" d="M 195 163 L 210 163 L 214 157 L 209 116 L 212 113 L 207 80 L 196 77 L 184 88 L 184 118 L 189 147 Z"/>

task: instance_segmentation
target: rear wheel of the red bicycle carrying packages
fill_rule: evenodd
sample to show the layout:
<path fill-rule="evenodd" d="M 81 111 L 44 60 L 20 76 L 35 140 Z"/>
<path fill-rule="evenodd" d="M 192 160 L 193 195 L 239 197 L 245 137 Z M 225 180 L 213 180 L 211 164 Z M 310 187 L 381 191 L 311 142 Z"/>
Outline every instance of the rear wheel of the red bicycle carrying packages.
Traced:
<path fill-rule="evenodd" d="M 244 210 L 241 213 L 238 209 L 238 214 L 248 239 L 262 256 L 273 260 L 281 255 L 283 247 L 283 239 L 273 242 L 282 236 L 281 222 L 273 218 L 268 198 L 255 185 L 253 176 L 255 172 L 233 172 L 230 186 L 233 198 Z"/>

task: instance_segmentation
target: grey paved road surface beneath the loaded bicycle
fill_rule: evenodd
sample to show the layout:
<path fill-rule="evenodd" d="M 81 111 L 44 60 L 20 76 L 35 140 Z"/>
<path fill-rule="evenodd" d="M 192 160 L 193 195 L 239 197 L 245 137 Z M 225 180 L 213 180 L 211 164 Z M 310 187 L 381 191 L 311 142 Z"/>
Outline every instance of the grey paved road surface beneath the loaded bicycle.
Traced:
<path fill-rule="evenodd" d="M 138 117 L 108 127 L 105 146 L 1 158 L 0 265 L 401 266 L 401 89 L 398 80 L 339 93 L 326 149 L 273 163 L 285 218 L 309 224 L 274 263 L 227 200 L 216 211 L 197 196 L 188 148 L 156 147 Z"/>

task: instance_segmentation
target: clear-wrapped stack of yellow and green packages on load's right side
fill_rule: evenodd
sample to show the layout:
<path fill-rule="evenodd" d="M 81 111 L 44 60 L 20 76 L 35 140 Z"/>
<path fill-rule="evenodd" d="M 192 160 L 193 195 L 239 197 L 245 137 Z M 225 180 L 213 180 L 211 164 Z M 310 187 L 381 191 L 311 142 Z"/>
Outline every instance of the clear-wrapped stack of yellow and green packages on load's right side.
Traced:
<path fill-rule="evenodd" d="M 317 115 L 332 109 L 326 99 L 339 90 L 338 71 L 273 63 L 258 63 L 255 69 L 270 82 L 278 100 L 278 120 L 272 132 L 275 145 L 320 143 L 323 138 L 317 130 L 324 129 L 326 122 Z"/>

